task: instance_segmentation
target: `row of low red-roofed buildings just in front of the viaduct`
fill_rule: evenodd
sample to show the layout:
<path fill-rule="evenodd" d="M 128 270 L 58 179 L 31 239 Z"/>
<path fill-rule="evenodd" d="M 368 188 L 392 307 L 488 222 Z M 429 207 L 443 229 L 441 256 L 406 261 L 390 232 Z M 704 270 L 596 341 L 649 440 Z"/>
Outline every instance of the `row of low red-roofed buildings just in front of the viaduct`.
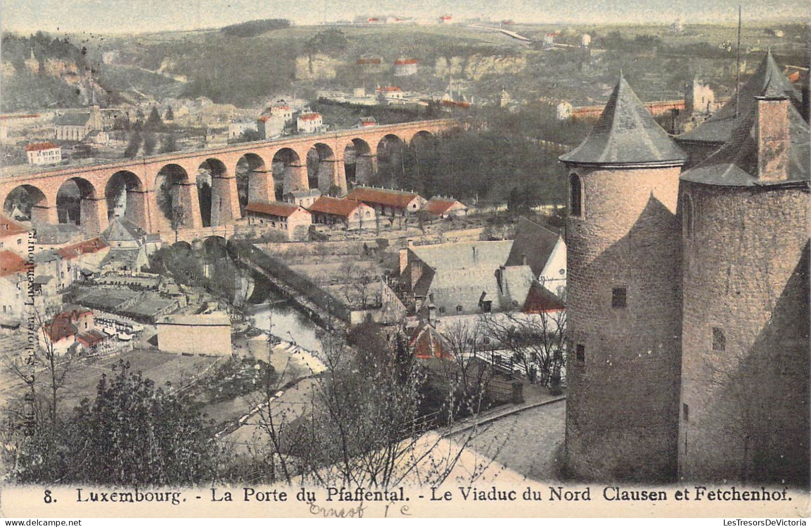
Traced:
<path fill-rule="evenodd" d="M 464 216 L 467 207 L 457 199 L 435 196 L 425 199 L 415 192 L 372 186 L 355 186 L 341 198 L 320 191 L 292 191 L 286 202 L 249 203 L 248 225 L 276 229 L 288 239 L 304 238 L 310 225 L 359 230 L 374 228 L 383 219 L 425 212 L 431 218 Z"/>

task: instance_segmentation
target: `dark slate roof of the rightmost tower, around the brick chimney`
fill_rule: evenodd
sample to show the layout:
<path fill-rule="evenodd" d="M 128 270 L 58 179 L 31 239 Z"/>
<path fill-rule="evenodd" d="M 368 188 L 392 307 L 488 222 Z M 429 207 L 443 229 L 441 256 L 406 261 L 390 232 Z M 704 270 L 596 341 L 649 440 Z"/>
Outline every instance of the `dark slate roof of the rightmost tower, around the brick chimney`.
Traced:
<path fill-rule="evenodd" d="M 776 92 L 769 89 L 764 95 L 774 96 Z M 754 97 L 752 99 L 754 101 Z M 788 178 L 785 180 L 762 181 L 757 177 L 757 107 L 749 109 L 723 147 L 681 174 L 681 179 L 721 186 L 773 186 L 807 182 L 811 166 L 809 125 L 791 104 L 788 105 L 788 134 Z"/>

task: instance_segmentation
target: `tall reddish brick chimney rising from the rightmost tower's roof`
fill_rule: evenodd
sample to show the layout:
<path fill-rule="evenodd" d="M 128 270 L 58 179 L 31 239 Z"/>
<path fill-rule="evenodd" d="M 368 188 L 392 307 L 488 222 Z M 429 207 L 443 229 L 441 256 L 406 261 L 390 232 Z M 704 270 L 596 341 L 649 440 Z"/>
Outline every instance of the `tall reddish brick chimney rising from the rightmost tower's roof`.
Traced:
<path fill-rule="evenodd" d="M 783 181 L 788 178 L 788 97 L 779 94 L 755 98 L 757 178 Z"/>

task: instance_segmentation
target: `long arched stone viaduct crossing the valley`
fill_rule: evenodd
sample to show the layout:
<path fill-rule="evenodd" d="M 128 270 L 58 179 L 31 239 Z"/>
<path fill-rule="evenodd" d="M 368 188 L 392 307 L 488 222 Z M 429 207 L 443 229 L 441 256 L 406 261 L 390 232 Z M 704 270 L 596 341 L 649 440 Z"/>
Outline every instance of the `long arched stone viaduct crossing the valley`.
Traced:
<path fill-rule="evenodd" d="M 37 223 L 59 221 L 57 195 L 67 182 L 79 188 L 79 225 L 85 234 L 94 235 L 108 225 L 114 204 L 108 195 L 115 188 L 126 190 L 124 216 L 148 232 L 168 234 L 172 221 L 159 204 L 159 195 L 169 192 L 178 229 L 203 231 L 204 227 L 223 231 L 241 217 L 237 167 L 247 172 L 247 198 L 268 202 L 277 194 L 311 188 L 315 177 L 307 174 L 307 156 L 315 158 L 317 186 L 322 192 L 333 186 L 346 191 L 345 161 L 354 161 L 355 179 L 367 182 L 377 169 L 377 154 L 391 142 L 413 144 L 415 137 L 436 137 L 459 125 L 451 119 L 404 122 L 332 131 L 317 135 L 298 135 L 285 139 L 230 144 L 220 148 L 171 152 L 156 156 L 105 164 L 60 166 L 37 172 L 0 176 L 0 203 L 9 208 L 8 196 L 23 187 L 32 206 L 31 219 Z M 346 156 L 346 160 L 345 160 Z M 350 159 L 350 156 L 354 159 Z M 204 225 L 200 211 L 197 174 L 201 169 L 211 177 L 210 221 Z M 275 173 L 275 174 L 274 174 Z M 315 185 L 312 185 L 315 186 Z M 9 210 L 5 211 L 10 212 Z M 63 219 L 64 221 L 64 219 Z"/>

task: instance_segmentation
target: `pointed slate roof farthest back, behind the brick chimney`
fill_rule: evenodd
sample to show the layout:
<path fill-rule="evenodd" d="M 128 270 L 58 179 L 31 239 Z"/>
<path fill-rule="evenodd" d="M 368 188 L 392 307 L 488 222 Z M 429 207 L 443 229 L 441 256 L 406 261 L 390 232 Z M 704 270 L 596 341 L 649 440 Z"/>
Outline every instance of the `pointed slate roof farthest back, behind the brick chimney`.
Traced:
<path fill-rule="evenodd" d="M 766 53 L 760 66 L 757 66 L 752 77 L 740 87 L 740 112 L 736 115 L 736 97 L 723 105 L 717 112 L 693 130 L 679 135 L 676 141 L 695 143 L 726 143 L 732 136 L 732 131 L 749 114 L 749 110 L 757 106 L 756 96 L 766 95 L 766 92 L 780 92 L 788 97 L 796 109 L 802 108 L 800 98 L 792 83 L 780 71 L 780 66 L 771 56 L 771 50 Z"/>

